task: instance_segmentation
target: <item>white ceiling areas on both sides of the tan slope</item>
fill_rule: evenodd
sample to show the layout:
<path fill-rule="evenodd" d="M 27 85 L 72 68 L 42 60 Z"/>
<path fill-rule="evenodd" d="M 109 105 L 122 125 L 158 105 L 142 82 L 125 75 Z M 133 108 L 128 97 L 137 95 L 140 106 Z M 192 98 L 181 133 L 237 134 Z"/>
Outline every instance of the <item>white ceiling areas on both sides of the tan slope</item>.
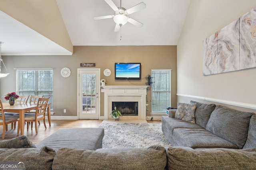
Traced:
<path fill-rule="evenodd" d="M 117 7 L 120 0 L 112 0 Z M 129 15 L 144 24 L 139 28 L 126 23 L 114 32 L 113 15 L 104 0 L 56 0 L 73 46 L 84 45 L 177 45 L 190 0 L 122 0 L 129 9 L 140 2 L 146 8 Z M 69 52 L 0 11 L 2 55 L 70 55 Z M 122 40 L 120 36 L 122 35 Z"/>

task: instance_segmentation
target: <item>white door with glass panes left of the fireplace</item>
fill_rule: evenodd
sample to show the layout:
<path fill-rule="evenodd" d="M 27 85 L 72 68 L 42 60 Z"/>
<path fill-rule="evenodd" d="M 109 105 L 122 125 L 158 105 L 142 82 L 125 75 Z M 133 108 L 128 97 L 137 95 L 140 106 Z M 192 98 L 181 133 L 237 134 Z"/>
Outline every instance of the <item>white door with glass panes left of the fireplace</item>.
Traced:
<path fill-rule="evenodd" d="M 79 119 L 99 119 L 100 68 L 78 69 L 78 80 Z"/>

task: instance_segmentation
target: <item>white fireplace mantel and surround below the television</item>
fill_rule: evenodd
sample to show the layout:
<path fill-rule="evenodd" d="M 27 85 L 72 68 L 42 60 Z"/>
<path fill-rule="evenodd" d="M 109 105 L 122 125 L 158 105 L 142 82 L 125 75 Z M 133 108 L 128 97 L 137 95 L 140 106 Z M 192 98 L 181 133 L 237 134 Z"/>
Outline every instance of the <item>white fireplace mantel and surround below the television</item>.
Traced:
<path fill-rule="evenodd" d="M 146 120 L 146 95 L 149 86 L 102 86 L 104 92 L 104 119 L 112 119 L 112 102 L 138 102 L 138 116 L 122 116 L 120 119 Z"/>

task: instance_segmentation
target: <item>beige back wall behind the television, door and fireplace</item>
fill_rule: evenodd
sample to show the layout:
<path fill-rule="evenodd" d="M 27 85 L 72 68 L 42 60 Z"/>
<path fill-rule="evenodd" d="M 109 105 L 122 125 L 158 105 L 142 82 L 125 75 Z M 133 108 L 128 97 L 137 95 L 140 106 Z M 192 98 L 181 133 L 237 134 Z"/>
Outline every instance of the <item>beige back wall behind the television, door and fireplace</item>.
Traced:
<path fill-rule="evenodd" d="M 74 46 L 72 56 L 3 56 L 4 63 L 11 74 L 0 79 L 0 95 L 16 90 L 15 70 L 13 68 L 54 68 L 54 116 L 77 115 L 77 68 L 80 63 L 96 63 L 95 68 L 101 69 L 101 79 L 107 85 L 146 85 L 151 69 L 172 69 L 172 105 L 176 107 L 176 46 Z M 141 80 L 114 80 L 114 63 L 142 63 Z M 60 70 L 68 67 L 71 75 L 63 78 Z M 83 67 L 84 68 L 84 67 Z M 86 67 L 85 67 L 86 68 Z M 109 68 L 112 74 L 105 77 L 104 69 Z M 104 94 L 101 94 L 101 115 L 104 110 Z M 151 91 L 148 91 L 147 104 L 150 102 Z M 67 113 L 63 113 L 63 109 Z M 147 115 L 150 116 L 151 107 Z"/>

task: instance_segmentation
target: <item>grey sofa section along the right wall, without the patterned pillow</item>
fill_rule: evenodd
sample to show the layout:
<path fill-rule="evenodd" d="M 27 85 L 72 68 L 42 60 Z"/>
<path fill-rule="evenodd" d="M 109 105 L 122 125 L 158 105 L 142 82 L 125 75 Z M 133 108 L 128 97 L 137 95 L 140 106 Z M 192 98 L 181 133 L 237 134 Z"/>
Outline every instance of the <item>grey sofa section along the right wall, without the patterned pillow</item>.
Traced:
<path fill-rule="evenodd" d="M 178 119 L 177 109 L 162 117 L 162 131 L 172 146 L 249 149 L 256 147 L 256 115 L 215 104 L 190 101 L 195 122 Z M 178 106 L 179 109 L 179 106 Z"/>

